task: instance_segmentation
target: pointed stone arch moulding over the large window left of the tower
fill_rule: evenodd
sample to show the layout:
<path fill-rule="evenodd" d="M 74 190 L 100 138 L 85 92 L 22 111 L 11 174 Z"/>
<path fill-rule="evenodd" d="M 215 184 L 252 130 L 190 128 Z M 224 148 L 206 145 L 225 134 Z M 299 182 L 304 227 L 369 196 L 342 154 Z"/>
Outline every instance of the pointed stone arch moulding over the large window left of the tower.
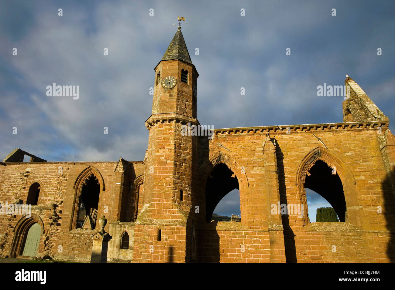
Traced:
<path fill-rule="evenodd" d="M 69 230 L 72 230 L 76 228 L 77 225 L 77 215 L 79 211 L 79 198 L 82 193 L 82 188 L 83 185 L 86 183 L 88 178 L 93 175 L 97 180 L 100 185 L 101 191 L 105 191 L 105 186 L 104 186 L 104 179 L 102 174 L 100 174 L 99 170 L 94 167 L 94 166 L 89 166 L 85 168 L 77 177 L 77 179 L 74 182 L 73 186 L 73 207 L 71 210 L 71 221 L 70 221 L 70 227 Z M 99 193 L 100 196 L 100 193 Z M 100 200 L 99 200 L 100 202 Z"/>

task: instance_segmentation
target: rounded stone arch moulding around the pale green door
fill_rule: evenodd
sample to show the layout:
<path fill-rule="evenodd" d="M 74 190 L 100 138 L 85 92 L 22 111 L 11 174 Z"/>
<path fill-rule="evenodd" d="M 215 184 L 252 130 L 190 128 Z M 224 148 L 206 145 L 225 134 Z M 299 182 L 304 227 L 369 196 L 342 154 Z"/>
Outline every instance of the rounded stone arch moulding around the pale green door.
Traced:
<path fill-rule="evenodd" d="M 24 242 L 28 233 L 28 230 L 32 225 L 38 223 L 41 226 L 41 234 L 45 234 L 44 223 L 39 215 L 32 213 L 31 217 L 27 217 L 26 215 L 22 217 L 15 228 L 12 230 L 14 233 L 12 247 L 11 247 L 11 256 L 19 256 L 22 254 Z"/>

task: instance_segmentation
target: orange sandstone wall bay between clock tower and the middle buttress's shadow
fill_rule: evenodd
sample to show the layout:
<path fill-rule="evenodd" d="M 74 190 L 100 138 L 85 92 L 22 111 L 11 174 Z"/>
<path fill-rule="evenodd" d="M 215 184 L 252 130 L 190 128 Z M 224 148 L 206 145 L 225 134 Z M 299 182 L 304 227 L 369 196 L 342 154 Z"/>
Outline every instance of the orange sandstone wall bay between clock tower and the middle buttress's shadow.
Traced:
<path fill-rule="evenodd" d="M 281 218 L 269 215 L 270 202 L 280 201 L 273 140 L 254 129 L 243 133 L 237 129 L 214 129 L 213 139 L 201 137 L 200 141 L 198 260 L 285 262 Z M 226 164 L 239 181 L 239 223 L 206 223 L 204 219 L 206 181 L 219 163 Z"/>

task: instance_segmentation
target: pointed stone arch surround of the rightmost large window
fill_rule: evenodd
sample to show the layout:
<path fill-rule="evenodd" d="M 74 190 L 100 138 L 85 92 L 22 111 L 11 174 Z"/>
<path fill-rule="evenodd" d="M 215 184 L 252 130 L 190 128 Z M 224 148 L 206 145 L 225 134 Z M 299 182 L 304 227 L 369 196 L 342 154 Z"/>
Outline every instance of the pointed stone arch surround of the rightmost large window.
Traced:
<path fill-rule="evenodd" d="M 354 222 L 361 225 L 361 219 L 357 216 L 357 190 L 354 174 L 346 163 L 333 152 L 318 146 L 311 150 L 301 161 L 296 171 L 295 186 L 298 188 L 299 200 L 302 200 L 307 209 L 307 199 L 305 191 L 306 176 L 309 176 L 309 170 L 314 166 L 316 161 L 324 161 L 329 167 L 335 168 L 343 185 L 344 198 L 346 200 L 346 221 Z M 308 221 L 305 215 L 305 222 Z"/>

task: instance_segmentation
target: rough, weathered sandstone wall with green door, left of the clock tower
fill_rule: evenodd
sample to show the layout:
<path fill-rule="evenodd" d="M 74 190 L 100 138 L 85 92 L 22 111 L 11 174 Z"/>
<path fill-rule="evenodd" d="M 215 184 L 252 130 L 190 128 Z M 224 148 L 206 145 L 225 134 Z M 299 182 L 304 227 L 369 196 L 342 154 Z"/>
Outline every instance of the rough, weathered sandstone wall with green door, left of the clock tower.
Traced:
<path fill-rule="evenodd" d="M 113 200 L 119 198 L 119 185 L 115 180 L 117 162 L 34 162 L 5 163 L 0 167 L 0 201 L 25 203 L 29 187 L 41 185 L 38 204 L 32 213 L 44 223 L 38 256 L 53 256 L 57 260 L 89 262 L 95 230 L 70 230 L 75 206 L 74 185 L 78 176 L 89 167 L 95 167 L 103 177 L 105 190 L 100 189 L 98 217 L 105 215 L 109 222 L 113 214 Z M 140 168 L 141 170 L 141 168 Z M 10 256 L 13 229 L 23 215 L 0 215 L 1 256 Z M 96 230 L 99 229 L 98 223 Z M 105 228 L 108 231 L 108 227 Z"/>

